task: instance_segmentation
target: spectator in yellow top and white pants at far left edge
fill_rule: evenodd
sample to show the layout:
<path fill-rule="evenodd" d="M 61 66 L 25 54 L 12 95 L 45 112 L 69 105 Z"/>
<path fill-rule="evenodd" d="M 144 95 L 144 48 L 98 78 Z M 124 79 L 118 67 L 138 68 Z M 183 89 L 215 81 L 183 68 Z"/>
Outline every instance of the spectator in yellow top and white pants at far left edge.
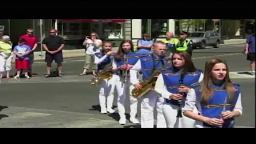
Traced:
<path fill-rule="evenodd" d="M 9 60 L 7 61 L 7 66 L 9 65 L 8 62 L 11 62 L 11 58 L 10 58 L 11 50 L 12 50 L 12 43 L 10 42 L 10 37 L 8 35 L 3 35 L 2 40 L 0 41 L 0 76 L 1 78 L 2 78 L 2 74 L 6 71 L 6 61 Z"/>

